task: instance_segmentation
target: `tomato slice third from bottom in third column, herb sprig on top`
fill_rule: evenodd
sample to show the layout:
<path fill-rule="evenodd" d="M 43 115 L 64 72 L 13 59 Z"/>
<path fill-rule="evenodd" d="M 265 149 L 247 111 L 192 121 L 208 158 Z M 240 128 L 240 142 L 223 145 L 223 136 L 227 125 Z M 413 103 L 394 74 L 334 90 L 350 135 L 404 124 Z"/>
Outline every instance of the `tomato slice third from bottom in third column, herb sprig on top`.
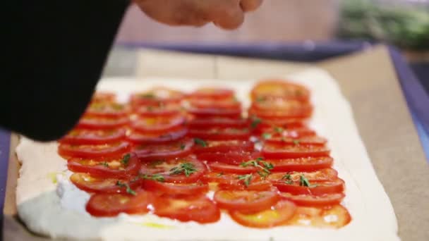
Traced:
<path fill-rule="evenodd" d="M 247 179 L 246 179 L 247 175 Z M 233 173 L 207 173 L 203 180 L 207 183 L 217 183 L 221 190 L 270 190 L 272 184 L 270 181 L 262 180 L 258 174 L 238 175 Z M 250 175 L 250 178 L 249 176 Z M 246 182 L 246 180 L 248 180 Z"/>

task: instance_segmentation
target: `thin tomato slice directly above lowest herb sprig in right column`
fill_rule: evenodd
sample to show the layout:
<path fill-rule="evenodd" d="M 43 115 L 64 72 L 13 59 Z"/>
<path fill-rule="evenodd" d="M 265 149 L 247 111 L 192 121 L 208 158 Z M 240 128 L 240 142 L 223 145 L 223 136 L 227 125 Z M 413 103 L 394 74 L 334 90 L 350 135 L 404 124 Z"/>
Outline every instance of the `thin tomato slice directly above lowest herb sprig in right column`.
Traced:
<path fill-rule="evenodd" d="M 310 172 L 298 172 L 290 171 L 286 173 L 271 173 L 267 177 L 267 180 L 272 181 L 285 181 L 285 182 L 299 182 L 301 176 L 307 178 L 311 182 L 325 182 L 330 180 L 336 180 L 338 178 L 338 172 L 332 168 L 325 168 L 318 171 Z"/>

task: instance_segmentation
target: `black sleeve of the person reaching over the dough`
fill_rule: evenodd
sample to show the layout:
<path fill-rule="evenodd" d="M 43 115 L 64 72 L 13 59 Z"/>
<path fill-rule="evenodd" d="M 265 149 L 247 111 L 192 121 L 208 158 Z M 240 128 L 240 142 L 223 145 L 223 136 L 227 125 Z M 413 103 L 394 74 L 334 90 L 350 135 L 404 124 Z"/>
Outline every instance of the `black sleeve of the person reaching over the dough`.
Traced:
<path fill-rule="evenodd" d="M 0 75 L 0 127 L 55 140 L 73 128 L 90 101 L 128 1 L 1 5 L 6 63 Z"/>

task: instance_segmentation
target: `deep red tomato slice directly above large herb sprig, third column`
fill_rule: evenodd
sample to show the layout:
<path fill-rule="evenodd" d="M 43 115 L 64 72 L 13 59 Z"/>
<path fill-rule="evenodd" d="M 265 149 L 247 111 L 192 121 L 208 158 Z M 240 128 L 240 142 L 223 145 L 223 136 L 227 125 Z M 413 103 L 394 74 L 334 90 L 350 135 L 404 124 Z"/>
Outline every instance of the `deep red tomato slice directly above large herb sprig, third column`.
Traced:
<path fill-rule="evenodd" d="M 258 152 L 203 152 L 197 154 L 198 159 L 202 161 L 218 161 L 229 164 L 240 164 L 244 161 L 250 161 L 260 157 Z"/>

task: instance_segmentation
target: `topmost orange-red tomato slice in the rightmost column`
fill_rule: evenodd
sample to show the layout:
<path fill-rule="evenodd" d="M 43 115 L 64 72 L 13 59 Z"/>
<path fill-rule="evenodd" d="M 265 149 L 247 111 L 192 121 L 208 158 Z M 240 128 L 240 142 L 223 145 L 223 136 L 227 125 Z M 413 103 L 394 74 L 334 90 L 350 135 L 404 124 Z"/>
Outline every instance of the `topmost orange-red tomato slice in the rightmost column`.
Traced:
<path fill-rule="evenodd" d="M 250 93 L 253 101 L 289 99 L 309 101 L 310 91 L 303 85 L 284 80 L 264 80 L 253 87 Z"/>

